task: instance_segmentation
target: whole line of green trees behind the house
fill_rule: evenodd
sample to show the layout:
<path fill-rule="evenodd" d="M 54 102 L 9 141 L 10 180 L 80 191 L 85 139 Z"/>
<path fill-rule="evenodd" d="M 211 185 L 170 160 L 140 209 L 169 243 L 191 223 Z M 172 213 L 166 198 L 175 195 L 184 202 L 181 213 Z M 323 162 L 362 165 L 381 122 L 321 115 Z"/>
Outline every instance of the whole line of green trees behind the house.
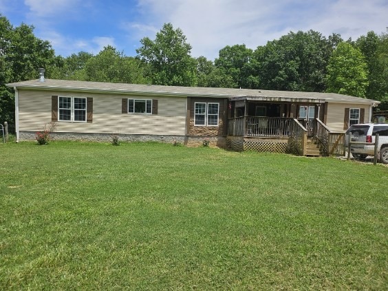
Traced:
<path fill-rule="evenodd" d="M 388 30 L 356 41 L 340 34 L 290 32 L 252 50 L 227 45 L 214 61 L 191 56 L 180 28 L 165 23 L 155 39 L 140 40 L 137 56 L 108 45 L 98 54 L 56 56 L 34 36 L 34 27 L 13 27 L 0 14 L 0 122 L 14 122 L 14 92 L 5 86 L 37 78 L 113 83 L 231 87 L 347 94 L 380 100 L 388 109 Z"/>

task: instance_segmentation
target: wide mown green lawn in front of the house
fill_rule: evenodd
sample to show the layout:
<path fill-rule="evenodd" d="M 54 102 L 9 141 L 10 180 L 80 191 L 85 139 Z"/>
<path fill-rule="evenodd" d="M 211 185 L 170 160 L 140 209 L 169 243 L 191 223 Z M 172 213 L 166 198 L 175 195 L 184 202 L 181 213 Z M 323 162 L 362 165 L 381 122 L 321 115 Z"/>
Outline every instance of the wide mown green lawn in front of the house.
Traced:
<path fill-rule="evenodd" d="M 388 168 L 0 144 L 1 290 L 387 290 Z"/>

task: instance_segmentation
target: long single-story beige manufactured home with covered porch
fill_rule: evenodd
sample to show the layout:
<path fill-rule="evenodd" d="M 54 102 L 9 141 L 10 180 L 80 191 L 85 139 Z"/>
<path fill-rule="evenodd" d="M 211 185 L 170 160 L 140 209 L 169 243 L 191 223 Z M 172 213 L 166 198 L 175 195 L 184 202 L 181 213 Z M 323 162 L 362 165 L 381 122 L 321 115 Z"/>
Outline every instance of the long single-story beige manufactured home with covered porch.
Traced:
<path fill-rule="evenodd" d="M 157 140 L 328 155 L 378 101 L 332 93 L 171 87 L 40 78 L 10 83 L 17 141 L 54 125 L 56 140 Z M 310 145 L 311 144 L 311 145 Z"/>

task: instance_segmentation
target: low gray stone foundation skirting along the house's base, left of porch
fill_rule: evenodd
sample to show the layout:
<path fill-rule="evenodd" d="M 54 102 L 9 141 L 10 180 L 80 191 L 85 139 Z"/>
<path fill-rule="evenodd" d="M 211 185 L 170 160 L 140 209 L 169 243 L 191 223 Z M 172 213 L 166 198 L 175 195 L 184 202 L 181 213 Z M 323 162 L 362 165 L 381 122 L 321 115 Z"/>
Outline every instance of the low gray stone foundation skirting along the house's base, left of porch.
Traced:
<path fill-rule="evenodd" d="M 113 136 L 118 136 L 119 142 L 179 142 L 189 147 L 202 146 L 204 140 L 209 141 L 211 147 L 226 148 L 224 136 L 169 136 L 147 134 L 111 134 L 111 133 L 50 133 L 52 140 L 74 140 L 82 142 L 111 142 Z M 36 140 L 35 132 L 20 131 L 19 140 Z"/>

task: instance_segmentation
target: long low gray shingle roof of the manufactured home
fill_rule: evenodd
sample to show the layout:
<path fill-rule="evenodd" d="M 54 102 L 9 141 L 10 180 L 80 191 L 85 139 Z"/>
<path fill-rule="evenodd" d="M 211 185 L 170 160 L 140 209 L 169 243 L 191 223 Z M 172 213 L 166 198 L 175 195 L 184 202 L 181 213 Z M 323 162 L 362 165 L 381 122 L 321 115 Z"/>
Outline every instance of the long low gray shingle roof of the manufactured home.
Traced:
<path fill-rule="evenodd" d="M 139 85 L 123 83 L 86 82 L 77 80 L 53 80 L 45 79 L 28 80 L 18 83 L 7 84 L 8 87 L 17 89 L 45 89 L 58 91 L 87 91 L 95 93 L 111 94 L 139 94 L 152 96 L 203 96 L 215 98 L 258 99 L 258 100 L 282 100 L 294 101 L 302 99 L 307 102 L 330 102 L 330 103 L 355 103 L 355 104 L 378 104 L 379 101 L 358 98 L 334 93 L 317 93 L 301 91 L 274 91 L 261 89 L 230 89 L 209 87 L 177 87 L 159 85 Z"/>

